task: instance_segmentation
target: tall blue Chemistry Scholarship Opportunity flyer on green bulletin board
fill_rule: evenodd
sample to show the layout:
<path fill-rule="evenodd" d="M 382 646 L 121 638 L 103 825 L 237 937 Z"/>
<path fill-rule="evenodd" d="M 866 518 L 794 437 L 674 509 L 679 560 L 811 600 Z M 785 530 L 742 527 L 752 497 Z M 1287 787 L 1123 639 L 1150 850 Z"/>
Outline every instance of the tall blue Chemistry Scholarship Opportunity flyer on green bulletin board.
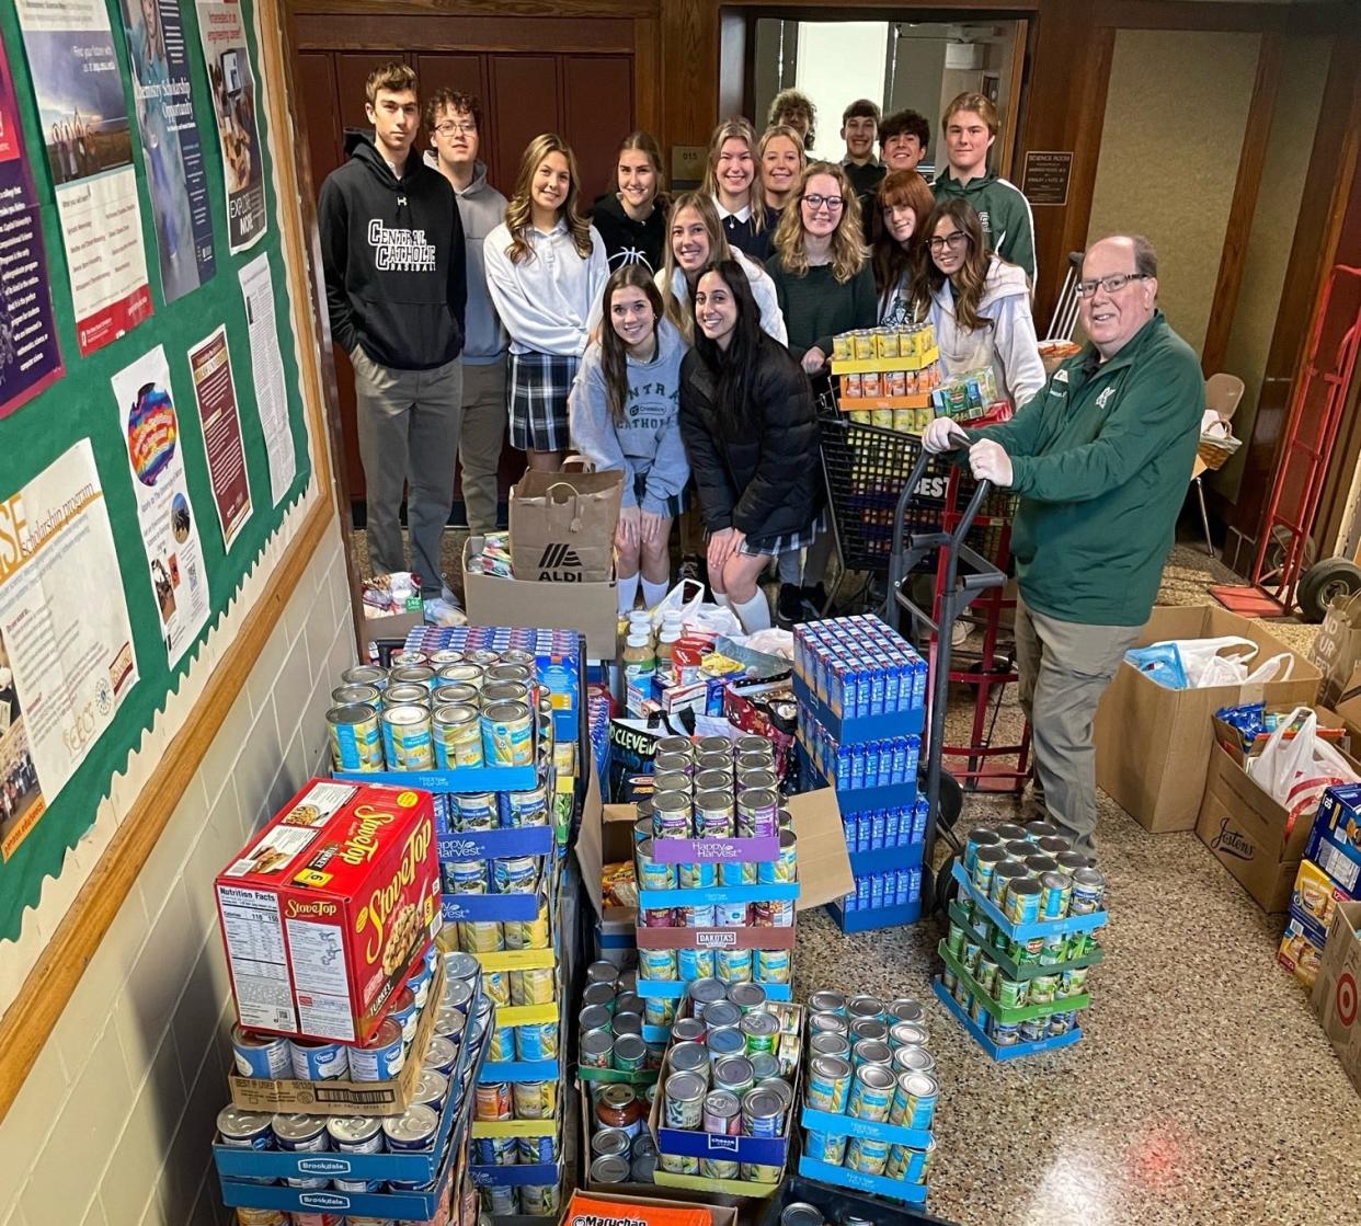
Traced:
<path fill-rule="evenodd" d="M 166 302 L 216 271 L 203 142 L 193 118 L 189 63 L 178 0 L 121 0 L 132 97 L 157 223 Z"/>

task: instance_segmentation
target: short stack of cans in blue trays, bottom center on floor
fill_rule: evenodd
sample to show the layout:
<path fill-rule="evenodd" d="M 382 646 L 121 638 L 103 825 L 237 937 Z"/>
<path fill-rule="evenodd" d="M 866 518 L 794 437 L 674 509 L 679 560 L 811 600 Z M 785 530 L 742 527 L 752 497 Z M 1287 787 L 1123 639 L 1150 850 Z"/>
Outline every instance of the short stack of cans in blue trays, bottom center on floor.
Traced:
<path fill-rule="evenodd" d="M 848 1121 L 930 1132 L 940 1087 L 927 1038 L 925 1012 L 916 1000 L 885 1004 L 870 995 L 847 999 L 841 992 L 814 992 L 808 997 L 804 1104 Z M 803 1153 L 862 1174 L 924 1184 L 935 1139 L 919 1147 L 810 1129 Z"/>

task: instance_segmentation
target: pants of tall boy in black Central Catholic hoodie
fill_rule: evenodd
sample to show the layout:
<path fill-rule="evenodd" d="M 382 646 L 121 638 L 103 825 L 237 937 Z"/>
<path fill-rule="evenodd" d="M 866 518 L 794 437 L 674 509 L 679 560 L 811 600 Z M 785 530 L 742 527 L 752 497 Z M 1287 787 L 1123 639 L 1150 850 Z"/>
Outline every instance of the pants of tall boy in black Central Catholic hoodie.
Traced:
<path fill-rule="evenodd" d="M 453 508 L 453 467 L 463 420 L 463 362 L 433 370 L 392 370 L 362 347 L 354 363 L 359 459 L 367 498 L 369 565 L 374 574 L 406 570 L 401 491 L 407 488 L 411 569 L 426 597 L 444 584 L 440 540 Z"/>

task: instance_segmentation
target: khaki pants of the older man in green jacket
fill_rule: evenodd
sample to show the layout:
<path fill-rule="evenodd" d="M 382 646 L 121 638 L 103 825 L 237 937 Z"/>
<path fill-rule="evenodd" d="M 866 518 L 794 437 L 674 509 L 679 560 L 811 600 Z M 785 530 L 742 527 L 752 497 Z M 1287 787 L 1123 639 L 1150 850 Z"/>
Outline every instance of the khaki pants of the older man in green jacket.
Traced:
<path fill-rule="evenodd" d="M 1017 599 L 1021 708 L 1030 721 L 1036 800 L 1079 850 L 1097 829 L 1097 705 L 1139 626 L 1060 622 Z"/>

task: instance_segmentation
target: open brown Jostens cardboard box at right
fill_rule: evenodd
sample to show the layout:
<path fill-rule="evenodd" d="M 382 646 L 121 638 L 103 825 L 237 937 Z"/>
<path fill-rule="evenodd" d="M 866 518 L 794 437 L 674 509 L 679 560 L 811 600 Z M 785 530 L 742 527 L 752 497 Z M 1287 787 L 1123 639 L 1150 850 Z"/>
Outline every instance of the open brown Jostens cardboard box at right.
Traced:
<path fill-rule="evenodd" d="M 1315 712 L 1326 727 L 1342 723 L 1327 708 L 1316 706 Z M 1288 910 L 1313 814 L 1301 815 L 1292 825 L 1285 806 L 1248 774 L 1233 729 L 1211 720 L 1214 744 L 1195 833 L 1264 912 Z M 1361 765 L 1350 757 L 1347 761 L 1361 776 Z"/>

